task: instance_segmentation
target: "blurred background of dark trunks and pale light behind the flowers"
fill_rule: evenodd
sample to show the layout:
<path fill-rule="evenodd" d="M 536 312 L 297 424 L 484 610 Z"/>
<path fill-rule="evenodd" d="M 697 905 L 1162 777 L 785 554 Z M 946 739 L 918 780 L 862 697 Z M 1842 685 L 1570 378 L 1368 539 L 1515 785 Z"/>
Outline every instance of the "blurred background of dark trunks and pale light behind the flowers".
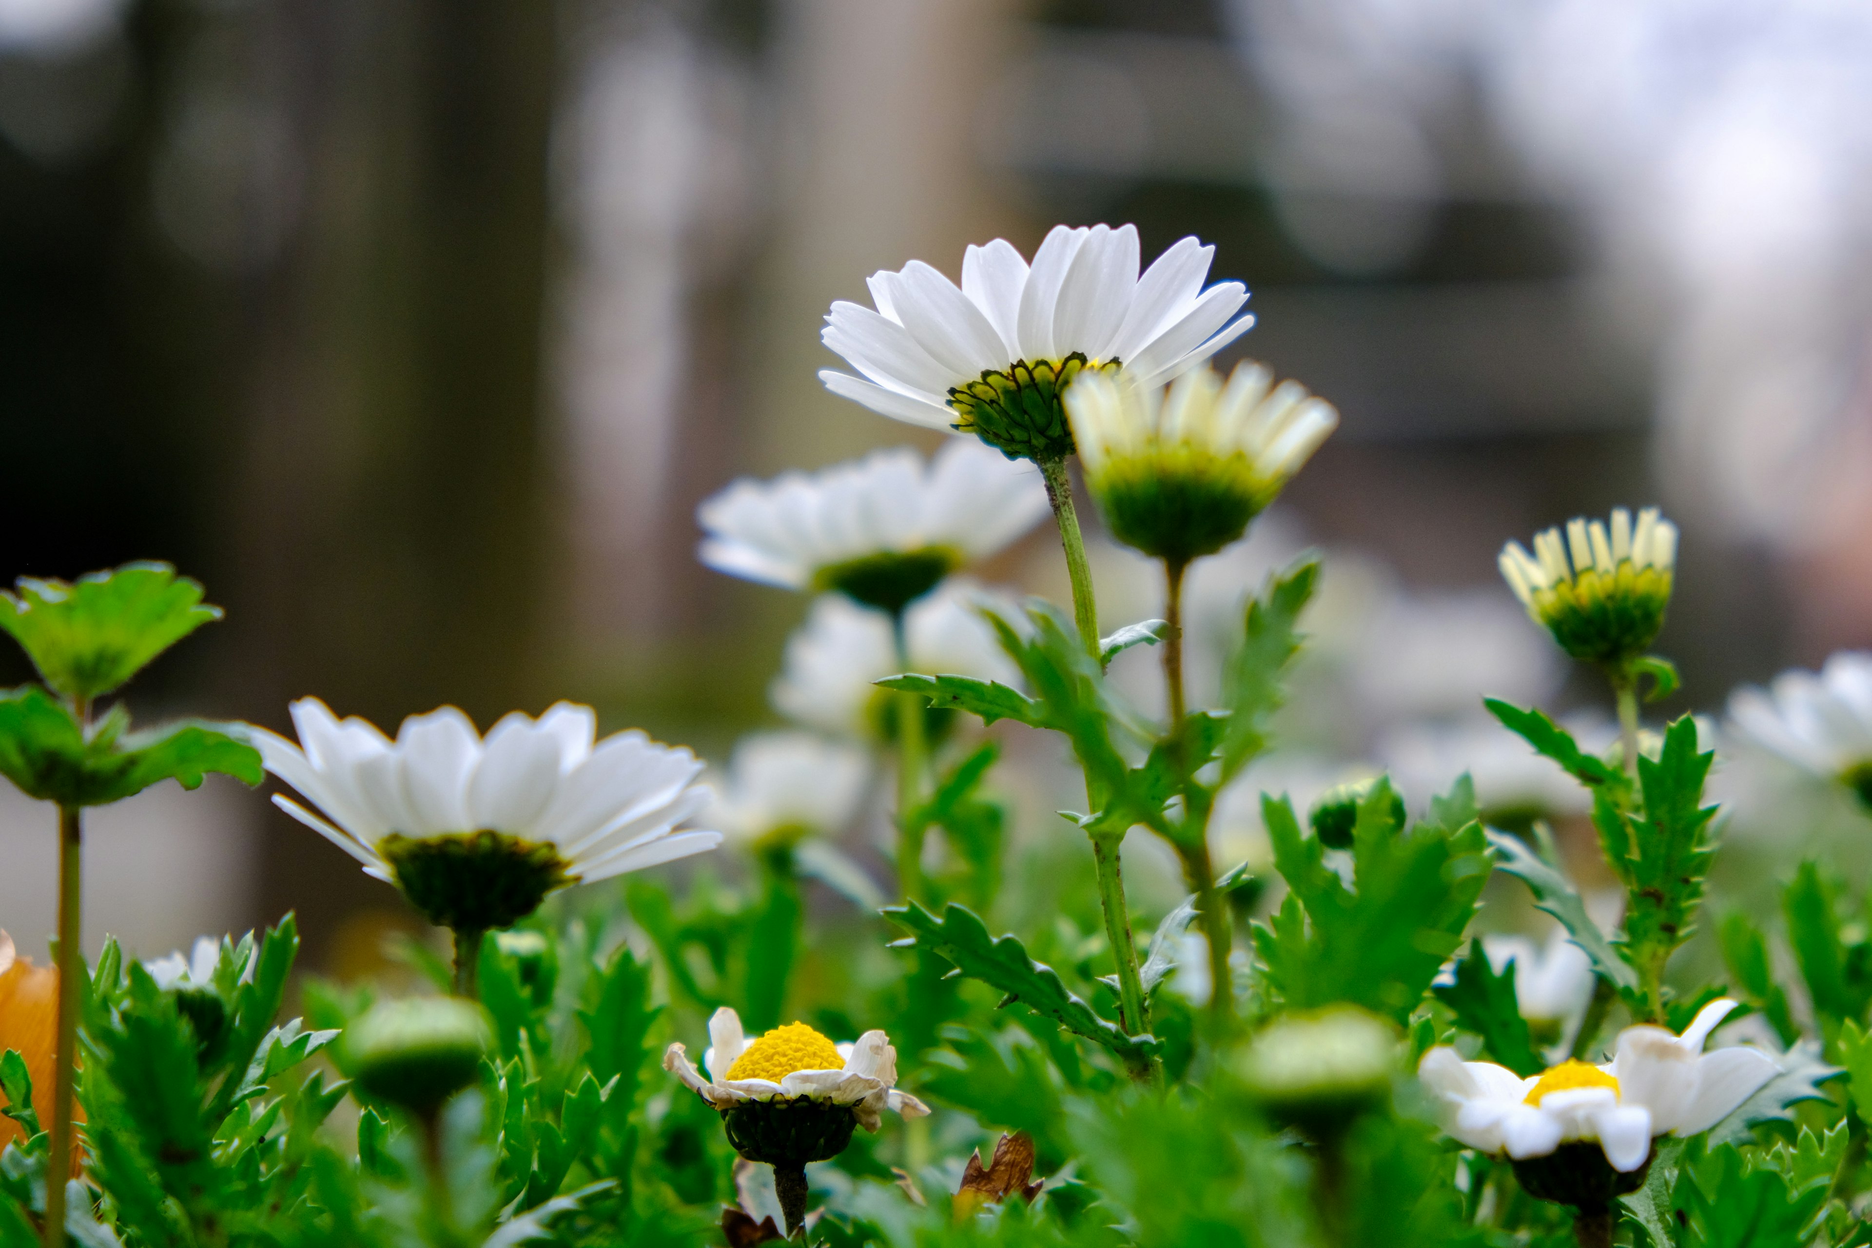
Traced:
<path fill-rule="evenodd" d="M 575 698 L 719 760 L 805 602 L 702 569 L 696 501 L 934 443 L 820 389 L 829 301 L 1133 221 L 1254 292 L 1224 363 L 1342 412 L 1267 522 L 1352 569 L 1335 758 L 1601 707 L 1494 558 L 1619 503 L 1683 528 L 1666 709 L 1718 711 L 1872 640 L 1868 157 L 1844 0 L 0 0 L 0 573 L 208 586 L 144 718 Z M 1063 593 L 1050 531 L 990 573 Z M 408 922 L 232 784 L 94 829 L 144 952 Z M 0 853 L 28 947 L 51 810 Z"/>

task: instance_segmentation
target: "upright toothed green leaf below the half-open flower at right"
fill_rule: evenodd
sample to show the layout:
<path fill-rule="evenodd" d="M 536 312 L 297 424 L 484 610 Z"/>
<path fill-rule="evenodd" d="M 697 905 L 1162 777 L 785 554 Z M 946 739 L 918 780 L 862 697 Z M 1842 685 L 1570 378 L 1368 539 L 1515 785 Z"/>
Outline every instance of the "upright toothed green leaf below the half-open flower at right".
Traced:
<path fill-rule="evenodd" d="M 1662 980 L 1670 954 L 1696 930 L 1704 878 L 1717 855 L 1709 836 L 1717 806 L 1702 805 L 1715 758 L 1713 750 L 1698 752 L 1696 722 L 1685 715 L 1664 732 L 1657 762 L 1638 760 L 1644 814 L 1621 816 L 1631 829 L 1621 947 L 1632 965 L 1651 967 L 1649 984 Z"/>

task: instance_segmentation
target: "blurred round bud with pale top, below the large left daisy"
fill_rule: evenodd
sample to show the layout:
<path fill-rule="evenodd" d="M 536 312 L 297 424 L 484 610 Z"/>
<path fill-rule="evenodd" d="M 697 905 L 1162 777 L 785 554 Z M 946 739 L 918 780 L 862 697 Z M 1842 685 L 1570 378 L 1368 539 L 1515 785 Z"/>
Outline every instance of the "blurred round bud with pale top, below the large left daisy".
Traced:
<path fill-rule="evenodd" d="M 429 1117 L 474 1083 L 494 1042 L 487 1014 L 459 997 L 382 1001 L 344 1029 L 344 1067 L 365 1093 Z"/>

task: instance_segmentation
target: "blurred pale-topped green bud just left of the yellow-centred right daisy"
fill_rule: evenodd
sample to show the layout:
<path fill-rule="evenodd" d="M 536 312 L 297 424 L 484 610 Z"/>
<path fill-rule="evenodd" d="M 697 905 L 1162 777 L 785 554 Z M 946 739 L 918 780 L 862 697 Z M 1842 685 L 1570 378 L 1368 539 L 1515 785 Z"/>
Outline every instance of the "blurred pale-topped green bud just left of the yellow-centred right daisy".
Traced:
<path fill-rule="evenodd" d="M 1331 1134 L 1391 1095 L 1397 1035 L 1357 1005 L 1286 1014 L 1241 1061 L 1249 1095 L 1275 1121 Z"/>

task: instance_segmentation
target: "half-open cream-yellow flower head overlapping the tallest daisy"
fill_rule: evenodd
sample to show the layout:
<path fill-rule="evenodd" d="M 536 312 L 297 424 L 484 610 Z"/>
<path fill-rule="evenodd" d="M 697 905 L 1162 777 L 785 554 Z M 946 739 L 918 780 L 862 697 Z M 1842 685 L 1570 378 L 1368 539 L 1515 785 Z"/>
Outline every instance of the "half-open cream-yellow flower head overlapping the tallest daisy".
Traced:
<path fill-rule="evenodd" d="M 1065 408 L 1112 533 L 1177 565 L 1239 539 L 1338 425 L 1331 404 L 1256 363 L 1226 384 L 1191 369 L 1168 391 L 1088 370 Z"/>

